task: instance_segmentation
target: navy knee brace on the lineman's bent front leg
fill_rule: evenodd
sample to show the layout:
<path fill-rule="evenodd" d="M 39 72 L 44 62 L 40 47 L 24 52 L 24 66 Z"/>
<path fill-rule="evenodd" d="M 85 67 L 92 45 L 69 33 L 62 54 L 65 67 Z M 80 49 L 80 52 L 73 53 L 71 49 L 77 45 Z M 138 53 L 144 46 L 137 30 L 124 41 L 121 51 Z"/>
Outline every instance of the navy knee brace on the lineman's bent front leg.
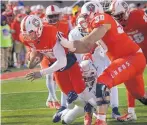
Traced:
<path fill-rule="evenodd" d="M 96 97 L 100 100 L 97 101 L 97 105 L 101 106 L 103 104 L 110 104 L 110 92 L 107 90 L 107 87 L 103 84 L 96 85 Z"/>

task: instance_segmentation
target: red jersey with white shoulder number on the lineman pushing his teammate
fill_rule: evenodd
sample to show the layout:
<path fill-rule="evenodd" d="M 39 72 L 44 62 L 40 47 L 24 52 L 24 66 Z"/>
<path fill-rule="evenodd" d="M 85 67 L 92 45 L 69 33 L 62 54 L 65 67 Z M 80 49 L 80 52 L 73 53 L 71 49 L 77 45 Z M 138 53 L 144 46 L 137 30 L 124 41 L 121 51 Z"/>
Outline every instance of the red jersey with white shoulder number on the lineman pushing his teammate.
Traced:
<path fill-rule="evenodd" d="M 108 14 L 96 14 L 91 22 L 91 27 L 94 29 L 103 24 L 111 24 L 111 29 L 102 38 L 103 42 L 100 43 L 111 60 L 139 50 L 139 46 L 124 33 L 122 26 Z"/>

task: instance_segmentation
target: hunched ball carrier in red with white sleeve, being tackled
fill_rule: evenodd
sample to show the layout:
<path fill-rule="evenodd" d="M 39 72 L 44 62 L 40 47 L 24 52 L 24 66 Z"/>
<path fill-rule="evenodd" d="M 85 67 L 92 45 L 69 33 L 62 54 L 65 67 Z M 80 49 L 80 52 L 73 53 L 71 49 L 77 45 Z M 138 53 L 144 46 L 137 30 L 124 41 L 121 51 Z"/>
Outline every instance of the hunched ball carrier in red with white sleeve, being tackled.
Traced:
<path fill-rule="evenodd" d="M 57 31 L 57 28 L 53 25 L 43 25 L 41 19 L 35 15 L 26 16 L 22 20 L 22 42 L 29 46 L 32 51 L 44 54 L 52 64 L 39 72 L 29 73 L 26 77 L 35 80 L 43 75 L 54 73 L 57 84 L 68 97 L 68 104 L 80 101 L 79 98 L 95 104 L 93 98 L 91 98 L 92 93 L 85 89 L 85 83 L 75 55 L 69 53 L 60 45 L 55 35 Z"/>

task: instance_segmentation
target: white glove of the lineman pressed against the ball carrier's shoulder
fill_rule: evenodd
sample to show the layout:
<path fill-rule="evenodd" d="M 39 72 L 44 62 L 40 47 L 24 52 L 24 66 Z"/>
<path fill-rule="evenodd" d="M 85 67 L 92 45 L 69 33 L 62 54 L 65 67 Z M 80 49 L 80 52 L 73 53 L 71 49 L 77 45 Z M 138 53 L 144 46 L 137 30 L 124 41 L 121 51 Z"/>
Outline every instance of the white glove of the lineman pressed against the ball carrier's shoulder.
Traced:
<path fill-rule="evenodd" d="M 68 48 L 72 52 L 76 50 L 76 48 L 73 47 L 73 41 L 68 41 L 64 38 L 62 32 L 57 32 L 57 38 L 63 47 Z"/>

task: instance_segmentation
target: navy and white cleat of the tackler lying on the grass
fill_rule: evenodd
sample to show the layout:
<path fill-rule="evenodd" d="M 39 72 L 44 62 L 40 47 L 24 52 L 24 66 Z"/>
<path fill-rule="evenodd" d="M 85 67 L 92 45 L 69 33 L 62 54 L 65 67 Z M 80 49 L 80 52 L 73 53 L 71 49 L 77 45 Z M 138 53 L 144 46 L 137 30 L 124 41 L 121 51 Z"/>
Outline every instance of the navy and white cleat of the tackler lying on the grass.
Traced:
<path fill-rule="evenodd" d="M 66 107 L 61 106 L 60 109 L 57 111 L 57 113 L 53 116 L 53 122 L 59 122 L 61 120 L 61 116 L 62 116 L 62 111 L 65 110 Z"/>

